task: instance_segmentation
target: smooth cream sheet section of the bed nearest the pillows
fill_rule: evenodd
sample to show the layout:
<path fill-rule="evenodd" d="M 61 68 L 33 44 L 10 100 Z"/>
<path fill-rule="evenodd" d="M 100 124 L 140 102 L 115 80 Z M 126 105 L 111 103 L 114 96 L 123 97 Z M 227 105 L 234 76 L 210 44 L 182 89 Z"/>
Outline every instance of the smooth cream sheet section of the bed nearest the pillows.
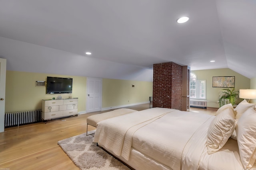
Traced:
<path fill-rule="evenodd" d="M 182 170 L 244 170 L 237 141 L 228 139 L 217 152 L 208 154 L 206 139 L 211 120 L 204 123 L 187 143 L 182 154 Z M 256 164 L 250 170 L 256 170 Z"/>

